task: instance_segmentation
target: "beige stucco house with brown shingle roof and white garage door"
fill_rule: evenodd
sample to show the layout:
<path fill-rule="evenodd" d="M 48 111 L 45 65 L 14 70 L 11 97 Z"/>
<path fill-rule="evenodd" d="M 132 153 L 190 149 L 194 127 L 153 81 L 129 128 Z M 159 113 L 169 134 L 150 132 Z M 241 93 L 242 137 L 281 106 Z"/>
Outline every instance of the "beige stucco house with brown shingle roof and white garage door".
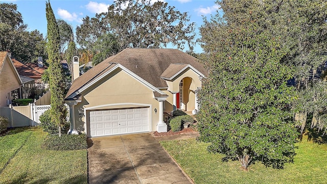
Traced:
<path fill-rule="evenodd" d="M 196 112 L 207 71 L 179 50 L 125 49 L 78 75 L 65 97 L 71 133 L 102 136 L 167 131 L 164 112 Z"/>

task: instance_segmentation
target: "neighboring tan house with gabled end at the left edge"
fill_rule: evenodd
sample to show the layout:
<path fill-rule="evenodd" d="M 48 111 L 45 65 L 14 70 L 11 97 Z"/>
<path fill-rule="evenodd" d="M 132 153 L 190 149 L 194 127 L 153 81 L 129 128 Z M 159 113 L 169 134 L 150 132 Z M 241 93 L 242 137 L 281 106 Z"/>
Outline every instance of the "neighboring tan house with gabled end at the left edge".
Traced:
<path fill-rule="evenodd" d="M 11 104 L 11 100 L 19 98 L 21 85 L 21 79 L 8 52 L 0 52 L 0 107 L 6 107 Z"/>

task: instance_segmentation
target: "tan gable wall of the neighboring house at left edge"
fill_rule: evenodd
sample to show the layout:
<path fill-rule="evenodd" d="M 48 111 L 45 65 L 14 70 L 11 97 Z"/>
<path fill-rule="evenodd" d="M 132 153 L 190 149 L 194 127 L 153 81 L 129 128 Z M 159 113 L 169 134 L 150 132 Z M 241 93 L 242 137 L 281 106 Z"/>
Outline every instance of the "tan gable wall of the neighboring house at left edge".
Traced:
<path fill-rule="evenodd" d="M 11 98 L 8 93 L 20 87 L 17 73 L 10 62 L 7 57 L 0 73 L 0 107 L 6 107 L 6 101 Z"/>

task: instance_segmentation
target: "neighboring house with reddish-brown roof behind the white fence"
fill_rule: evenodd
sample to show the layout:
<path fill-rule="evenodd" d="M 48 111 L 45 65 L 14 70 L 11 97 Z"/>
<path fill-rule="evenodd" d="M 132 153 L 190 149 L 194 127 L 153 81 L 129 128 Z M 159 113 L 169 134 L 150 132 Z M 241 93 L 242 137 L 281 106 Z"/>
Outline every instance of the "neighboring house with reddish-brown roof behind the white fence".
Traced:
<path fill-rule="evenodd" d="M 12 58 L 12 62 L 15 65 L 23 83 L 20 90 L 22 98 L 28 98 L 31 94 L 31 89 L 36 85 L 40 86 L 41 88 L 46 87 L 41 80 L 46 66 L 35 63 L 23 63 L 14 58 Z"/>

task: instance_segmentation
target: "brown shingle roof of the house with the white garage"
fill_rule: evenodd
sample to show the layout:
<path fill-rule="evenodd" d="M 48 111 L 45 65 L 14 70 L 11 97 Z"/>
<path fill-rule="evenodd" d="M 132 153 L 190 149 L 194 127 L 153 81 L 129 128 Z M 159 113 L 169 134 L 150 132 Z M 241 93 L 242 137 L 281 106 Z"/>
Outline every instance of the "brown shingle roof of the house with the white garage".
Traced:
<path fill-rule="evenodd" d="M 116 63 L 123 65 L 134 74 L 159 88 L 168 87 L 165 80 L 160 76 L 174 63 L 190 64 L 202 74 L 207 74 L 197 58 L 177 49 L 125 49 L 105 59 L 77 78 L 71 88 L 69 88 L 66 98 L 98 76 L 101 76 L 101 74 L 110 70 Z"/>

